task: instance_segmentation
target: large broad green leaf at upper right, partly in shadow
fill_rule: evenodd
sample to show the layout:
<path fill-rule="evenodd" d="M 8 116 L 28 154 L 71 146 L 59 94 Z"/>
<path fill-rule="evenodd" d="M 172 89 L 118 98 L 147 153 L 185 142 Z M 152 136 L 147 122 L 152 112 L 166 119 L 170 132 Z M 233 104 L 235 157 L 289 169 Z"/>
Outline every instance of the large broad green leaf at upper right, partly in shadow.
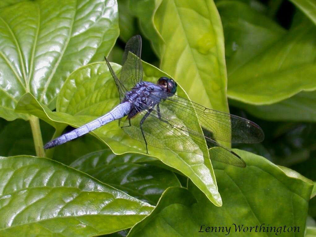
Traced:
<path fill-rule="evenodd" d="M 304 90 L 316 89 L 314 25 L 303 22 L 284 34 L 284 31 L 273 27 L 271 21 L 260 16 L 260 13 L 250 13 L 249 7 L 248 11 L 245 11 L 246 5 L 238 1 L 222 2 L 224 10 L 220 5 L 219 10 L 224 11 L 223 24 L 233 26 L 224 27 L 226 39 L 232 42 L 226 44 L 228 56 L 233 60 L 230 62 L 228 57 L 229 98 L 248 104 L 264 105 L 287 99 Z M 236 9 L 234 17 L 227 16 L 229 10 Z M 239 24 L 244 19 L 247 19 L 247 22 Z M 258 32 L 260 35 L 268 32 L 268 37 L 264 36 L 265 40 L 260 40 Z M 248 34 L 252 37 L 244 41 Z M 251 43 L 253 39 L 254 43 Z M 259 44 L 256 41 L 259 41 Z M 231 45 L 232 50 L 229 49 Z"/>

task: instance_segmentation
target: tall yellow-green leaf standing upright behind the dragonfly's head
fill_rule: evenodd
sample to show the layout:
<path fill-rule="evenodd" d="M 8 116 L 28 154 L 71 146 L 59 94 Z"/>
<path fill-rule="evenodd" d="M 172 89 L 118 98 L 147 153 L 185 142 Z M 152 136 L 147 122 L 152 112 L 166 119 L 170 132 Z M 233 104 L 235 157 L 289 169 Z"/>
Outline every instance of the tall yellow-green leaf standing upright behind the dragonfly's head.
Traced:
<path fill-rule="evenodd" d="M 163 0 L 154 22 L 162 38 L 161 70 L 192 101 L 228 112 L 224 35 L 214 2 Z"/>

